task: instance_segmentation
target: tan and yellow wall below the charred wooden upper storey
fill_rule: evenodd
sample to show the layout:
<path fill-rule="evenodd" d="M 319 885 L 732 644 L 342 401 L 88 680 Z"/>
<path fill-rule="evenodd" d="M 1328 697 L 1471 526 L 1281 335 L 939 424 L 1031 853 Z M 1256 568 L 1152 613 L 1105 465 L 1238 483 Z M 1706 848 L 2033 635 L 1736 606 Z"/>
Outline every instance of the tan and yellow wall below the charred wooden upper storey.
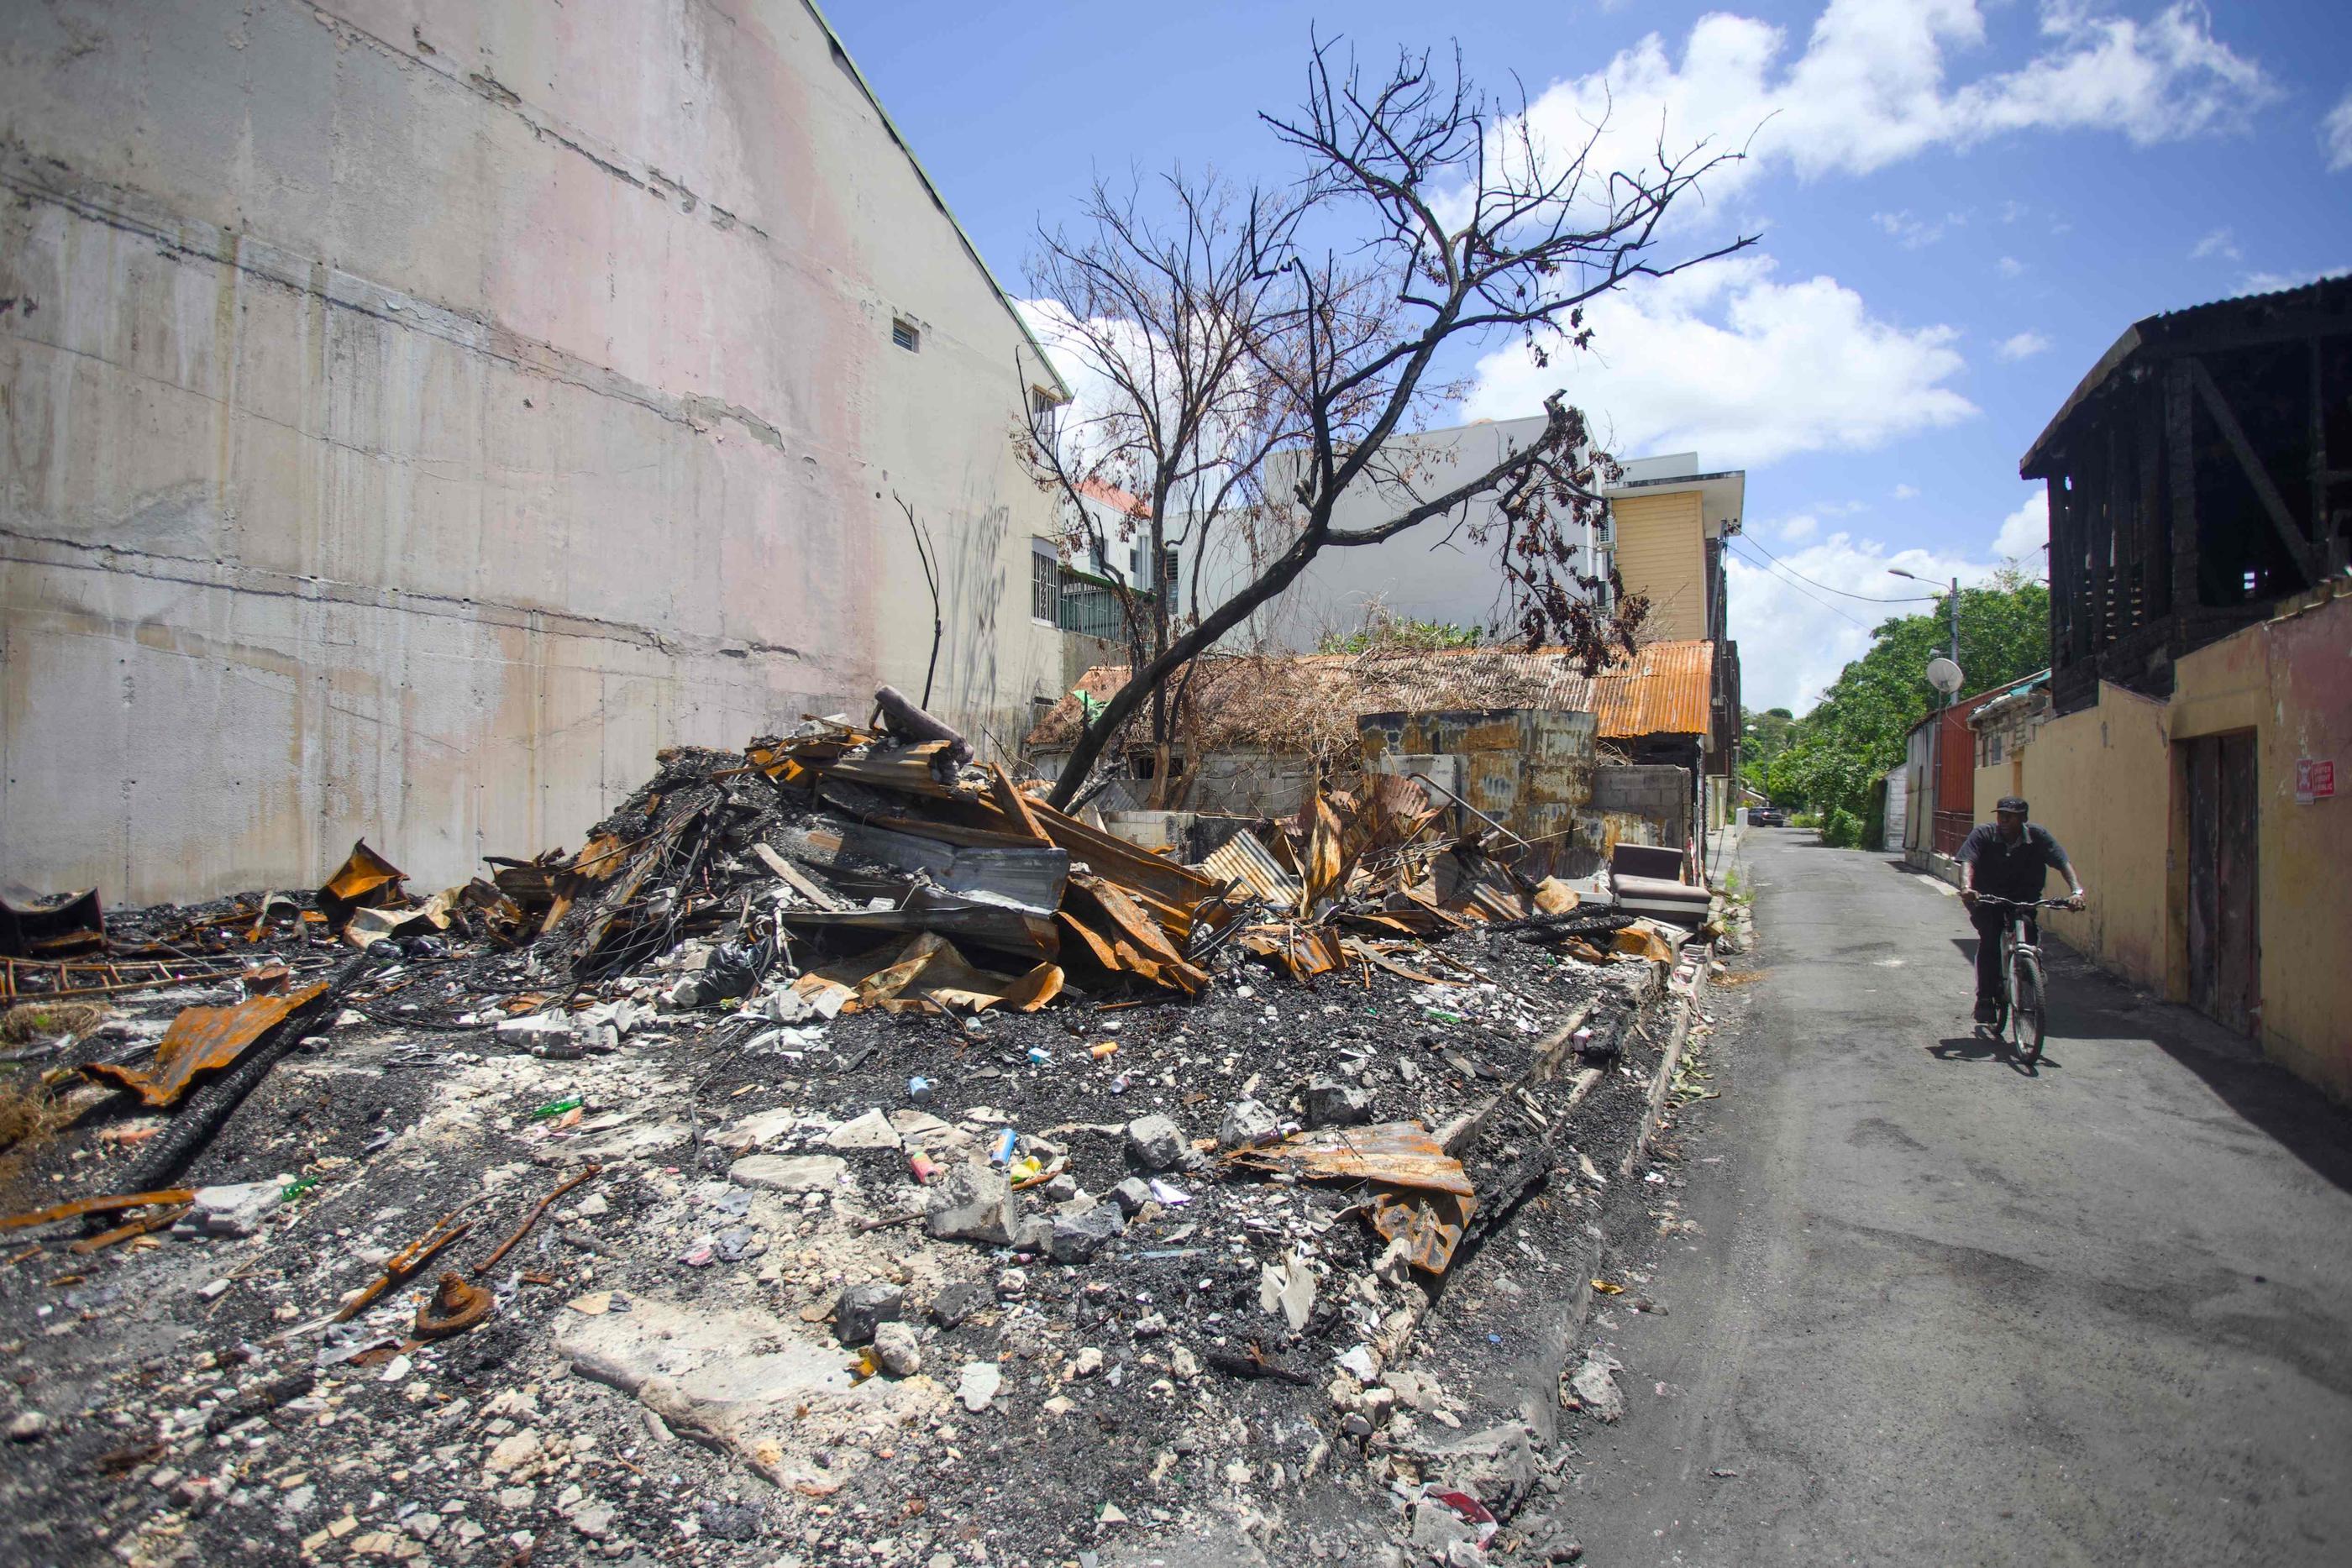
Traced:
<path fill-rule="evenodd" d="M 2298 804 L 2296 759 L 2352 762 L 2352 597 L 2197 649 L 2157 703 L 2100 684 L 2023 752 L 2034 818 L 2067 846 L 2091 907 L 2051 929 L 2103 966 L 2187 1001 L 2187 809 L 2178 745 L 2256 733 L 2263 1048 L 2352 1100 L 2352 795 Z M 1983 792 L 1978 795 L 1983 802 Z M 1990 811 L 1990 804 L 1983 806 Z"/>

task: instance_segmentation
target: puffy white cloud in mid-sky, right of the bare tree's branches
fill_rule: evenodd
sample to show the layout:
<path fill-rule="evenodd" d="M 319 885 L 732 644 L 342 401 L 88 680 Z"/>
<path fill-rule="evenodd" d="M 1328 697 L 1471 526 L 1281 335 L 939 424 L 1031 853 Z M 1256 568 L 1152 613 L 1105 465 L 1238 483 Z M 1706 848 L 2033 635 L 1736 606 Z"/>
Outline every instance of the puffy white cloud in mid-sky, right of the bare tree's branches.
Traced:
<path fill-rule="evenodd" d="M 1853 451 L 1952 425 L 1976 404 L 1945 381 L 1950 327 L 1896 327 L 1835 277 L 1773 282 L 1736 256 L 1585 308 L 1592 348 L 1538 367 L 1512 343 L 1477 362 L 1465 418 L 1515 418 L 1555 388 L 1618 454 L 1698 449 L 1708 463 Z"/>

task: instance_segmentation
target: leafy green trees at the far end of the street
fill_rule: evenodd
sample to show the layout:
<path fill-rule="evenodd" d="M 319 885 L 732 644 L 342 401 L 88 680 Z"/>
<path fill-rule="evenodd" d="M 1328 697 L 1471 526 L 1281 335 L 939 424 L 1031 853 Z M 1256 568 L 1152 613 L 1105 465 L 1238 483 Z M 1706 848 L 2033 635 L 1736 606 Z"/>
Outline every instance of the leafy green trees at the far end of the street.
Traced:
<path fill-rule="evenodd" d="M 2049 590 L 2002 569 L 1983 588 L 1959 590 L 1959 668 L 1969 691 L 2004 686 L 2049 665 Z M 1903 762 L 1912 724 L 1938 705 L 1926 661 L 1950 646 L 1943 604 L 1929 616 L 1882 623 L 1870 651 L 1849 663 L 1766 766 L 1769 795 L 1797 799 L 1860 832 L 1870 788 Z M 1842 832 L 1851 837 L 1851 832 Z"/>

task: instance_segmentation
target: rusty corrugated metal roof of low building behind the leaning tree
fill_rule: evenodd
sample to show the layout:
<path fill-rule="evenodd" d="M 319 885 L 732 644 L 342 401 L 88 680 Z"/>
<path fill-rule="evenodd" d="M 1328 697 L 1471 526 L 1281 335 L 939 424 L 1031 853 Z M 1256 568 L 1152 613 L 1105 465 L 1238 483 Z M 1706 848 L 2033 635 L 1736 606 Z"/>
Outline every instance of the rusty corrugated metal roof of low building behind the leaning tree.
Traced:
<path fill-rule="evenodd" d="M 1176 691 L 1178 675 L 1169 682 Z M 1030 750 L 1068 750 L 1077 691 L 1108 698 L 1127 665 L 1096 665 L 1028 733 Z M 1715 693 L 1715 644 L 1651 642 L 1599 675 L 1564 649 L 1444 649 L 1430 654 L 1291 654 L 1204 658 L 1178 724 L 1204 750 L 1352 750 L 1367 712 L 1543 708 L 1590 712 L 1602 741 L 1703 736 Z"/>

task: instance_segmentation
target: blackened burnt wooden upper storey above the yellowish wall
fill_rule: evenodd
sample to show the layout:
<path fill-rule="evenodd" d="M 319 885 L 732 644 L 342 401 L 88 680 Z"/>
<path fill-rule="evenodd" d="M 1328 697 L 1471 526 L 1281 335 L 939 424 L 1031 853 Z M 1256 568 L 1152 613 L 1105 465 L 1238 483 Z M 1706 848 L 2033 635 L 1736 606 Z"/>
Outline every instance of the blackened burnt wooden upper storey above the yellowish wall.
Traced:
<path fill-rule="evenodd" d="M 2171 696 L 2183 654 L 2345 571 L 2352 277 L 2133 324 L 2018 473 L 2049 482 L 2056 710 Z"/>

